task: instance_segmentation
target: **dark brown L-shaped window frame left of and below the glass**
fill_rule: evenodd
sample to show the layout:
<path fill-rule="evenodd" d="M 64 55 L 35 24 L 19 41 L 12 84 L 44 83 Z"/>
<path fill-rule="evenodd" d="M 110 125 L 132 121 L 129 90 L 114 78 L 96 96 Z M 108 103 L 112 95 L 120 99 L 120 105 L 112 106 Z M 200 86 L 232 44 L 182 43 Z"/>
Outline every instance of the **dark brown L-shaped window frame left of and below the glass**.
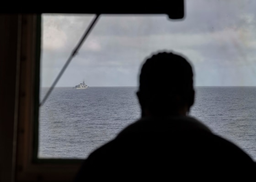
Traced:
<path fill-rule="evenodd" d="M 73 181 L 82 160 L 38 159 L 41 15 L 20 15 L 16 182 Z"/>

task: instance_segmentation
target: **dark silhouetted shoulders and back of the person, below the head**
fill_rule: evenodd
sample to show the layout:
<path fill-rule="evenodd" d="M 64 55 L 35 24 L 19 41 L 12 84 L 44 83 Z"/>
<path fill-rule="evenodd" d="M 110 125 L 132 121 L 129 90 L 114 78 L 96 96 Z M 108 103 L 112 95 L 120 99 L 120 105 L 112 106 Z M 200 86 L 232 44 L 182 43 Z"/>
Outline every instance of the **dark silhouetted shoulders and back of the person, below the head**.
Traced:
<path fill-rule="evenodd" d="M 156 121 L 164 123 L 158 126 Z M 174 123 L 168 124 L 171 121 Z M 187 122 L 186 130 L 176 132 L 185 127 L 179 126 L 182 121 Z M 189 130 L 189 126 L 194 128 Z M 242 149 L 205 129 L 193 118 L 143 118 L 121 133 L 91 153 L 79 178 L 96 179 L 100 177 L 98 172 L 106 179 L 113 179 L 117 173 L 135 177 L 129 173 L 130 169 L 138 174 L 162 174 L 165 177 L 170 176 L 170 171 L 173 176 L 179 176 L 184 172 L 194 175 L 199 170 L 218 178 L 220 174 L 229 178 L 248 178 L 256 172 L 255 162 Z M 167 168 L 165 164 L 168 164 Z"/>

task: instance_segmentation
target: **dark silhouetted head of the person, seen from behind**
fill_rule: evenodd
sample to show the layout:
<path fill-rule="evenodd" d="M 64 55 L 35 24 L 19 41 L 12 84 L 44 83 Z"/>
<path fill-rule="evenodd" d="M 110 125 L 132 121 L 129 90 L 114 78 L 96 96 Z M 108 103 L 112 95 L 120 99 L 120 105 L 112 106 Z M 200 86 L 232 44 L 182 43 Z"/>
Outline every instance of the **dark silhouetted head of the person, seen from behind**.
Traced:
<path fill-rule="evenodd" d="M 192 66 L 184 56 L 159 52 L 146 59 L 137 92 L 142 117 L 186 114 L 194 94 Z"/>

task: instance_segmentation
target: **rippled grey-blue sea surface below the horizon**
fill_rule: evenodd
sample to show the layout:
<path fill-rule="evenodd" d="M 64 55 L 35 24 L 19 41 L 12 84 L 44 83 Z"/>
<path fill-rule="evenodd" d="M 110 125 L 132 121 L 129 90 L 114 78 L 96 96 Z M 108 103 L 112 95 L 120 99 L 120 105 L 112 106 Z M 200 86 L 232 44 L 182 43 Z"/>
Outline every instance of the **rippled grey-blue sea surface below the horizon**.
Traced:
<path fill-rule="evenodd" d="M 48 88 L 41 89 L 41 100 Z M 56 87 L 40 108 L 40 158 L 85 158 L 139 119 L 136 87 Z M 256 87 L 196 87 L 191 116 L 256 160 Z"/>

